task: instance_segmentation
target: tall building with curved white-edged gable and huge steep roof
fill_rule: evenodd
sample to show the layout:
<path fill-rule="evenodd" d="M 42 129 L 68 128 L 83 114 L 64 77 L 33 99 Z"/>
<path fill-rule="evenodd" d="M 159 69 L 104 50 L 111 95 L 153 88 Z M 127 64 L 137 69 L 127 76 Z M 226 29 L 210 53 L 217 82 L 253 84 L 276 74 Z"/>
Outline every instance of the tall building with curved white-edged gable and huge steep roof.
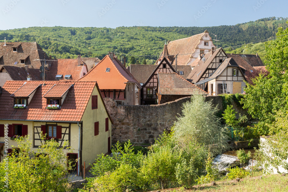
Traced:
<path fill-rule="evenodd" d="M 165 46 L 167 46 L 166 51 Z M 204 33 L 191 37 L 168 41 L 167 45 L 164 45 L 164 51 L 160 54 L 159 59 L 165 56 L 172 65 L 177 62 L 177 65 L 193 66 L 198 55 L 208 53 L 212 47 L 216 49 L 209 32 L 206 30 Z M 158 65 L 159 59 L 156 61 L 156 65 Z"/>

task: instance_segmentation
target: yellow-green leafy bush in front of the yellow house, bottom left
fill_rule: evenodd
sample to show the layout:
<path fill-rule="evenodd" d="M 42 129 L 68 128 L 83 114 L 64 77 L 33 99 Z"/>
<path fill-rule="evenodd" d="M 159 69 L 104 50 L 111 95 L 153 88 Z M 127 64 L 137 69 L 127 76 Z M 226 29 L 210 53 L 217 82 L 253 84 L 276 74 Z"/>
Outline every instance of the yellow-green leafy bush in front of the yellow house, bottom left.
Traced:
<path fill-rule="evenodd" d="M 41 139 L 44 138 L 45 136 L 42 136 Z M 11 191 L 71 190 L 66 176 L 76 162 L 67 159 L 64 149 L 59 147 L 58 142 L 46 141 L 34 151 L 31 151 L 32 140 L 29 140 L 29 136 L 20 137 L 16 142 L 18 152 L 16 149 L 12 151 L 8 166 Z M 68 142 L 65 142 L 64 146 L 68 146 Z M 71 153 L 72 150 L 69 152 Z M 1 161 L 0 170 L 4 170 L 4 166 L 5 161 Z M 1 178 L 4 177 L 3 173 L 0 172 Z"/>

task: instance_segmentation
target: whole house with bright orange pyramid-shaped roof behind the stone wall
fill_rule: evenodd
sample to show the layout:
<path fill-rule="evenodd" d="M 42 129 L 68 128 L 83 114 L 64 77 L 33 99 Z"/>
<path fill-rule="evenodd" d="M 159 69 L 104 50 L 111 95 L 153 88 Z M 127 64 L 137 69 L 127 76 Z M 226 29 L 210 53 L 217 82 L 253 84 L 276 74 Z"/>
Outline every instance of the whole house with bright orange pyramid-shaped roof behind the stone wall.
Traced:
<path fill-rule="evenodd" d="M 106 55 L 79 81 L 97 81 L 102 97 L 109 97 L 117 105 L 139 105 L 141 85 L 114 53 Z"/>

